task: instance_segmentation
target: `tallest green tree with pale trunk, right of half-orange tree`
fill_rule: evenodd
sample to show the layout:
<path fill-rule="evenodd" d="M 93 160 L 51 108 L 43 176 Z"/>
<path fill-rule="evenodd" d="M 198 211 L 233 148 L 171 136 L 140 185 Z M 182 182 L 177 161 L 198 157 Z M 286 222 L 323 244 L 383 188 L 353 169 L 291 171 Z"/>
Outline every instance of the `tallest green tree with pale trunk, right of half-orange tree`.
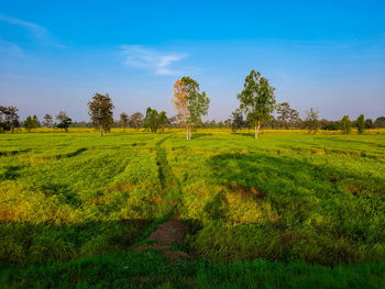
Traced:
<path fill-rule="evenodd" d="M 268 84 L 267 78 L 252 70 L 244 80 L 243 91 L 237 96 L 241 102 L 240 110 L 246 114 L 248 121 L 255 127 L 255 140 L 258 137 L 261 124 L 273 118 L 274 90 L 275 88 Z"/>

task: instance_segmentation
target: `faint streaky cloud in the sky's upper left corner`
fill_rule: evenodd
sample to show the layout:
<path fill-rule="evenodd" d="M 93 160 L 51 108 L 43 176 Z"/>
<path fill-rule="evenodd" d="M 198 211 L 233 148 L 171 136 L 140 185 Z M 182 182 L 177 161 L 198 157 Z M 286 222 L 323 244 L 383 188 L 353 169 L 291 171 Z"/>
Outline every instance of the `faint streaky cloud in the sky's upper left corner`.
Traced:
<path fill-rule="evenodd" d="M 50 36 L 50 33 L 45 27 L 37 25 L 35 23 L 28 22 L 16 18 L 9 18 L 6 15 L 0 15 L 0 22 L 6 22 L 11 25 L 16 25 L 16 26 L 26 29 L 35 37 L 35 40 L 38 41 L 41 44 L 55 46 L 59 48 L 66 47 L 65 45 L 54 41 Z"/>

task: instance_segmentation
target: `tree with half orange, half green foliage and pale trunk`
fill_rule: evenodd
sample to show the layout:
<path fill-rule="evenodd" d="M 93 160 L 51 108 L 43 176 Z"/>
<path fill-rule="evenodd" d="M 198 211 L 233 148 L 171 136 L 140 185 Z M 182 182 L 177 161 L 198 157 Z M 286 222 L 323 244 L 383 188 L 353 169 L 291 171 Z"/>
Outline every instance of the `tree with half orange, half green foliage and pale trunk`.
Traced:
<path fill-rule="evenodd" d="M 179 124 L 186 127 L 186 138 L 191 140 L 193 127 L 207 114 L 210 99 L 206 91 L 199 92 L 199 84 L 187 76 L 177 79 L 173 90 L 172 102 L 178 112 Z"/>

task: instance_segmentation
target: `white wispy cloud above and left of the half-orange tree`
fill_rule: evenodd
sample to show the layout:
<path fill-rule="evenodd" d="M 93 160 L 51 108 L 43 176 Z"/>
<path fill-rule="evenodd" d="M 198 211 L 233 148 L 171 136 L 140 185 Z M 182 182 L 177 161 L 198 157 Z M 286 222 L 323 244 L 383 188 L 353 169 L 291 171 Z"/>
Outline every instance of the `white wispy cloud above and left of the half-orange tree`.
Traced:
<path fill-rule="evenodd" d="M 186 58 L 186 54 L 165 54 L 140 45 L 121 45 L 125 56 L 124 65 L 151 69 L 156 75 L 180 75 L 182 71 L 172 68 L 174 63 Z"/>

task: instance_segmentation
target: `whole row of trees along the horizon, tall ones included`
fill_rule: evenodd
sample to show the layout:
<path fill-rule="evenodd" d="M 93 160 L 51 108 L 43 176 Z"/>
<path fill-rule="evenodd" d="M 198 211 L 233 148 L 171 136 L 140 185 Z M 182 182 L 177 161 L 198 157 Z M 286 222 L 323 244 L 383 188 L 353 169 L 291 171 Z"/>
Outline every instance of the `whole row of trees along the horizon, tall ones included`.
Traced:
<path fill-rule="evenodd" d="M 131 115 L 122 112 L 118 120 L 113 118 L 114 105 L 108 93 L 95 93 L 87 103 L 90 122 L 74 122 L 65 111 L 59 111 L 55 118 L 45 114 L 42 120 L 36 115 L 29 115 L 24 121 L 19 120 L 16 107 L 0 105 L 0 132 L 11 131 L 22 126 L 26 131 L 36 127 L 57 127 L 67 131 L 68 127 L 96 127 L 101 135 L 111 127 L 145 129 L 148 132 L 163 131 L 166 127 L 186 129 L 187 140 L 191 138 L 191 130 L 195 127 L 207 129 L 231 129 L 237 132 L 241 129 L 254 129 L 257 138 L 260 127 L 266 129 L 306 129 L 316 133 L 318 129 L 328 131 L 342 131 L 350 133 L 352 127 L 358 127 L 359 133 L 366 129 L 385 127 L 385 116 L 376 120 L 365 119 L 360 114 L 356 120 L 351 121 L 344 115 L 339 121 L 319 119 L 319 113 L 314 108 L 306 111 L 306 118 L 301 120 L 299 112 L 293 109 L 288 102 L 276 103 L 275 88 L 270 80 L 261 76 L 261 73 L 252 70 L 244 80 L 241 93 L 237 96 L 240 107 L 224 121 L 202 121 L 207 115 L 210 99 L 206 91 L 200 91 L 199 84 L 190 77 L 177 79 L 173 86 L 174 97 L 172 102 L 177 114 L 168 118 L 165 111 L 147 108 L 145 114 L 135 112 Z M 276 111 L 277 116 L 273 115 Z"/>

